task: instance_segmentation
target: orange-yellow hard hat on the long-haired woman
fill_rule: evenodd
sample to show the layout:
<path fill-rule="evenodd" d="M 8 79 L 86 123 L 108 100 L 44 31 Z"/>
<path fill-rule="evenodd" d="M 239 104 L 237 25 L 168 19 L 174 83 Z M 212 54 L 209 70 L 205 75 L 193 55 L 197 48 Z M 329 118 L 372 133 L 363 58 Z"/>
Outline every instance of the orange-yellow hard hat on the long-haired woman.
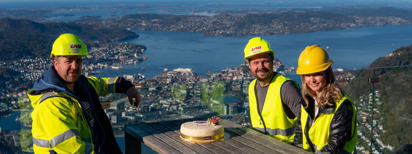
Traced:
<path fill-rule="evenodd" d="M 321 46 L 313 45 L 307 46 L 300 53 L 297 63 L 296 74 L 312 74 L 328 69 L 333 61 L 330 59 L 328 52 Z"/>

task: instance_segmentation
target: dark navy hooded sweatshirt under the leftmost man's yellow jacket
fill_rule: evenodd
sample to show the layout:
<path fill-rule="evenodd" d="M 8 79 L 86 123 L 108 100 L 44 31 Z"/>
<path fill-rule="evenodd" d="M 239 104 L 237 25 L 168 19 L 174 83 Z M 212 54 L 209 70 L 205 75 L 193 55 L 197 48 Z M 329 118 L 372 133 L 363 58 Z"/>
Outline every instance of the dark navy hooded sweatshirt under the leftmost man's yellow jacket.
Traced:
<path fill-rule="evenodd" d="M 122 154 L 122 151 L 117 145 L 110 121 L 101 106 L 98 94 L 88 81 L 91 79 L 81 75 L 74 83 L 75 94 L 64 85 L 62 80 L 63 79 L 56 73 L 54 66 L 52 66 L 47 71 L 44 71 L 42 76 L 35 81 L 33 85 L 34 91 L 31 92 L 30 95 L 60 91 L 76 98 L 81 102 L 80 106 L 82 107 L 83 115 L 88 115 L 85 117 L 92 132 L 95 153 Z M 119 77 L 116 81 L 116 86 L 117 92 L 125 93 L 129 87 L 133 87 L 133 84 L 130 81 L 125 80 L 123 77 Z M 90 106 L 87 107 L 89 114 L 85 110 L 85 106 Z"/>

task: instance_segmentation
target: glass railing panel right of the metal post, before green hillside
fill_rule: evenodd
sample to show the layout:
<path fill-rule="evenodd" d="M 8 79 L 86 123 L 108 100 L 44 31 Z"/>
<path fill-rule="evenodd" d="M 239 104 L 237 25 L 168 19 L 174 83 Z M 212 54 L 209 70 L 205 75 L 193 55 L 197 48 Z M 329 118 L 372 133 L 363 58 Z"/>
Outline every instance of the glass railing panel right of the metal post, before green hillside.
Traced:
<path fill-rule="evenodd" d="M 373 146 L 376 154 L 391 153 L 412 143 L 412 67 L 374 69 Z"/>

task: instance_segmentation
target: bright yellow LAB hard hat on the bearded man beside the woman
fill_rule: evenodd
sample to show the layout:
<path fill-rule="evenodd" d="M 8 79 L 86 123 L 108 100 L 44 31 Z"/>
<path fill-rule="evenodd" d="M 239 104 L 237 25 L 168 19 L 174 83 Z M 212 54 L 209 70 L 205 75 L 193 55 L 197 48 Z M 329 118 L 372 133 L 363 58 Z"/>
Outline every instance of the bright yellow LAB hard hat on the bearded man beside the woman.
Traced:
<path fill-rule="evenodd" d="M 272 56 L 274 55 L 270 44 L 262 39 L 261 37 L 253 37 L 249 40 L 248 44 L 244 49 L 245 52 L 245 60 L 249 63 L 250 57 L 257 55 L 259 53 L 270 53 Z"/>

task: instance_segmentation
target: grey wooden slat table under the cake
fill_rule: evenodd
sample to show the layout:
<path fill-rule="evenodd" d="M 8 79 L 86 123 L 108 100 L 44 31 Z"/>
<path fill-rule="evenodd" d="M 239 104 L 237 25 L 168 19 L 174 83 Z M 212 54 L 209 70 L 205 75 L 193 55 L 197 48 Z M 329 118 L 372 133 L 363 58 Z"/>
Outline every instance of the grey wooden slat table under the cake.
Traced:
<path fill-rule="evenodd" d="M 223 142 L 190 143 L 180 140 L 180 125 L 205 120 L 192 118 L 126 125 L 126 154 L 140 154 L 143 142 L 159 154 L 311 154 L 229 120 L 222 120 L 230 138 Z"/>

